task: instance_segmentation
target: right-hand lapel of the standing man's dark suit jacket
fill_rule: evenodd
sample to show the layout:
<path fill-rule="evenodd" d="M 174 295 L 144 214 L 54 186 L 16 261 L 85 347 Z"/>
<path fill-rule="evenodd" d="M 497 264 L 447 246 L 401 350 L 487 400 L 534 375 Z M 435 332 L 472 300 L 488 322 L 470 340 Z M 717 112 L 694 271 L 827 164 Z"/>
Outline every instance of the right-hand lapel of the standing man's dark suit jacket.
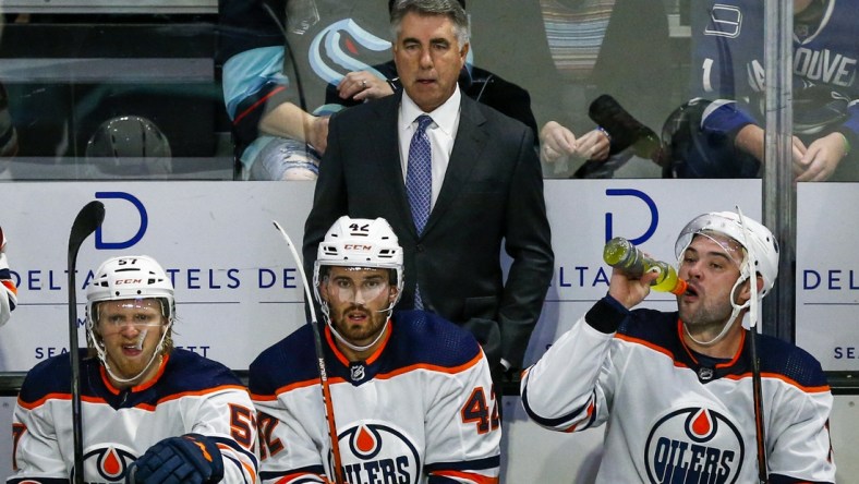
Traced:
<path fill-rule="evenodd" d="M 457 129 L 457 137 L 453 141 L 453 150 L 450 153 L 450 161 L 447 166 L 445 180 L 441 183 L 441 191 L 438 194 L 433 211 L 430 213 L 424 233 L 433 229 L 436 221 L 444 216 L 445 211 L 450 208 L 453 201 L 459 196 L 459 192 L 465 186 L 471 171 L 474 169 L 488 140 L 488 135 L 483 128 L 486 118 L 477 109 L 477 104 L 463 95 L 460 107 L 459 128 Z M 407 205 L 408 202 L 407 197 Z"/>

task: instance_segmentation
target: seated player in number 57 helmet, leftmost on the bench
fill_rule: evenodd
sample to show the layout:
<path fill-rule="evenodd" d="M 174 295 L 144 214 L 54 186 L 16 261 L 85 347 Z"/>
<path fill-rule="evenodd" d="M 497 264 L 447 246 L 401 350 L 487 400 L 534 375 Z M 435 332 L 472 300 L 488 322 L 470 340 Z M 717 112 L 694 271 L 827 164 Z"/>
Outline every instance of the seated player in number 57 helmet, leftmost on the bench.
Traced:
<path fill-rule="evenodd" d="M 81 359 L 85 482 L 252 483 L 255 410 L 226 366 L 173 348 L 173 286 L 148 256 L 106 261 L 87 288 Z M 69 354 L 27 374 L 9 483 L 73 476 Z M 128 480 L 128 481 L 126 481 Z"/>

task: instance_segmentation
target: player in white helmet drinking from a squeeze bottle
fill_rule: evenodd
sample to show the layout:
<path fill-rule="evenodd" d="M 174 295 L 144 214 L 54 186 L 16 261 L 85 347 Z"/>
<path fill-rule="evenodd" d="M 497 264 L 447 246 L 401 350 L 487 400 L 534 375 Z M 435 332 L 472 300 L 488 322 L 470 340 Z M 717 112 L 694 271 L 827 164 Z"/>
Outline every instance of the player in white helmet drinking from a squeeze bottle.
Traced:
<path fill-rule="evenodd" d="M 615 269 L 608 294 L 525 372 L 522 404 L 555 431 L 607 424 L 600 483 L 759 482 L 742 317 L 750 281 L 760 298 L 775 282 L 777 243 L 748 217 L 710 213 L 683 228 L 675 253 L 689 283 L 677 312 L 630 311 L 656 275 Z M 835 482 L 833 398 L 820 363 L 773 337 L 757 344 L 769 482 Z"/>

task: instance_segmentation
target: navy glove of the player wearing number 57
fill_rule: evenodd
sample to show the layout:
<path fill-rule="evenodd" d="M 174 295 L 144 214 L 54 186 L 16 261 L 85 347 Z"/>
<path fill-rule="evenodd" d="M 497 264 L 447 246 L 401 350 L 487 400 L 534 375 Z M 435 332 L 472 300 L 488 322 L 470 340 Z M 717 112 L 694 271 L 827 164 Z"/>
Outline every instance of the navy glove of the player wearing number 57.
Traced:
<path fill-rule="evenodd" d="M 131 484 L 204 484 L 223 479 L 218 446 L 199 434 L 168 437 L 149 447 L 130 468 Z"/>

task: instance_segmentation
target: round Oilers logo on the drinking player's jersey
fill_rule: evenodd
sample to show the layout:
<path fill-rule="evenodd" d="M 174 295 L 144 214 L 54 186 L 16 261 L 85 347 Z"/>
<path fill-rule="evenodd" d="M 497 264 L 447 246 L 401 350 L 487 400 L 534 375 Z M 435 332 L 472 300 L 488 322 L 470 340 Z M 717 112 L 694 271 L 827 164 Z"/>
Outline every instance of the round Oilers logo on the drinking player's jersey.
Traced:
<path fill-rule="evenodd" d="M 688 407 L 660 418 L 644 459 L 651 483 L 735 483 L 745 455 L 742 437 L 715 410 Z"/>

